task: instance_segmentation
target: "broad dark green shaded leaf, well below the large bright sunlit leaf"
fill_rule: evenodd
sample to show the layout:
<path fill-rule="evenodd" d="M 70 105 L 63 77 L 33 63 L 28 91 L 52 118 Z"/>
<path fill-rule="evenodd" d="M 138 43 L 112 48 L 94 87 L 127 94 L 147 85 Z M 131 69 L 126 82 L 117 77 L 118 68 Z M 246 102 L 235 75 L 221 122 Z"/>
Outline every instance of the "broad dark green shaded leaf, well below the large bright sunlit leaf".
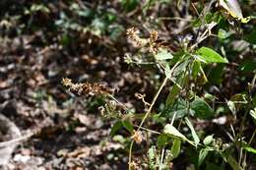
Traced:
<path fill-rule="evenodd" d="M 215 114 L 209 104 L 199 97 L 191 103 L 191 109 L 195 111 L 194 116 L 201 119 L 209 119 Z"/>

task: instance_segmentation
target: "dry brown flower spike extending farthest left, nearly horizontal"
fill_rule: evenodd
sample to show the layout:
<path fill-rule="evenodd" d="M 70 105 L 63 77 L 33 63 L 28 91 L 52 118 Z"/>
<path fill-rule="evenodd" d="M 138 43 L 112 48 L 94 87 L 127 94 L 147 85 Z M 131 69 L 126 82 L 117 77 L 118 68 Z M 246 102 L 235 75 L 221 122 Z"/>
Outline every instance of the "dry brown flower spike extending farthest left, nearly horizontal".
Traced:
<path fill-rule="evenodd" d="M 62 84 L 67 86 L 70 91 L 76 92 L 79 95 L 100 95 L 100 94 L 110 94 L 112 93 L 112 89 L 109 87 L 105 87 L 100 84 L 90 84 L 90 83 L 79 83 L 74 84 L 70 79 L 64 78 L 62 80 Z"/>

